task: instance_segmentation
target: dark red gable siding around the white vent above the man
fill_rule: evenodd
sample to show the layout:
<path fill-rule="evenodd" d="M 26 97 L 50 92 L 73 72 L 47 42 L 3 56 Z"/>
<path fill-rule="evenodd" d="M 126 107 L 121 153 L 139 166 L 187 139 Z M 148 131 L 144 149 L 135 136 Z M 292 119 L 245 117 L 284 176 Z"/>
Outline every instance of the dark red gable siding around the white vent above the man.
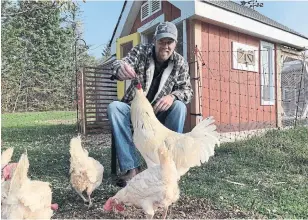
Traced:
<path fill-rule="evenodd" d="M 156 12 L 155 14 L 151 15 L 150 17 L 146 18 L 143 21 L 141 21 L 141 18 L 140 18 L 140 11 L 141 9 L 139 10 L 139 13 L 133 24 L 130 34 L 136 33 L 137 29 L 140 28 L 142 25 L 154 20 L 155 18 L 157 18 L 158 16 L 162 14 L 165 14 L 165 21 L 173 21 L 174 19 L 181 17 L 181 10 L 175 7 L 174 5 L 172 5 L 168 1 L 162 1 L 162 10 Z"/>

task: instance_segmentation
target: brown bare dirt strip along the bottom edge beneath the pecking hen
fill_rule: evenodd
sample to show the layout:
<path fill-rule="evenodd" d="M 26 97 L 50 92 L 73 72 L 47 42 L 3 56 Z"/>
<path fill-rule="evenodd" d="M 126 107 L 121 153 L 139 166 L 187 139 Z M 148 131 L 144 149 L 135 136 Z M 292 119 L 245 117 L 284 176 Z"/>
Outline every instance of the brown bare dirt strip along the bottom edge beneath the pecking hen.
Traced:
<path fill-rule="evenodd" d="M 104 201 L 97 201 L 88 209 L 80 204 L 80 208 L 66 212 L 56 213 L 53 218 L 78 218 L 78 219 L 144 219 L 145 214 L 142 209 L 126 207 L 123 213 L 105 212 L 103 210 Z M 233 210 L 219 210 L 205 199 L 191 199 L 182 196 L 179 201 L 173 204 L 168 211 L 168 219 L 225 219 L 225 218 L 256 218 L 253 213 L 245 213 L 236 208 Z M 154 219 L 162 218 L 162 210 L 158 210 Z"/>

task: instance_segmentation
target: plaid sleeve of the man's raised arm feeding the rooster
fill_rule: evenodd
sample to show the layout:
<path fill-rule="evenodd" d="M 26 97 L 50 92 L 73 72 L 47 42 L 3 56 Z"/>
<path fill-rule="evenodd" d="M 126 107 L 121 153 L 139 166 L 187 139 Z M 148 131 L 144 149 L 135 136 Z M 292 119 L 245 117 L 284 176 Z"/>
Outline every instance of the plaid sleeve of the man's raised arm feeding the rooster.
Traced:
<path fill-rule="evenodd" d="M 138 65 L 138 60 L 140 59 L 140 55 L 142 53 L 142 45 L 137 45 L 135 46 L 133 49 L 131 49 L 127 56 L 125 56 L 124 58 L 122 58 L 121 60 L 116 60 L 113 62 L 113 71 L 112 74 L 119 80 L 118 78 L 118 70 L 120 69 L 121 65 L 123 65 L 123 63 L 128 63 L 129 65 L 131 65 L 134 69 L 137 68 Z"/>

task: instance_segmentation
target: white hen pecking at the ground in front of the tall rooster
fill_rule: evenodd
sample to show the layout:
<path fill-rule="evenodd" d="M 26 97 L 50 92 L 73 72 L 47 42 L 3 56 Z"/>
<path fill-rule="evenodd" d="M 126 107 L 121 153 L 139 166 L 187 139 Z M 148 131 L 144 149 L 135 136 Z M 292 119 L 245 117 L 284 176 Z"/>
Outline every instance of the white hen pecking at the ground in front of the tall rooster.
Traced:
<path fill-rule="evenodd" d="M 147 218 L 153 218 L 157 208 L 164 209 L 179 199 L 178 174 L 166 147 L 158 148 L 160 165 L 152 166 L 134 176 L 115 196 L 104 205 L 105 211 L 123 211 L 123 205 L 142 208 Z"/>

